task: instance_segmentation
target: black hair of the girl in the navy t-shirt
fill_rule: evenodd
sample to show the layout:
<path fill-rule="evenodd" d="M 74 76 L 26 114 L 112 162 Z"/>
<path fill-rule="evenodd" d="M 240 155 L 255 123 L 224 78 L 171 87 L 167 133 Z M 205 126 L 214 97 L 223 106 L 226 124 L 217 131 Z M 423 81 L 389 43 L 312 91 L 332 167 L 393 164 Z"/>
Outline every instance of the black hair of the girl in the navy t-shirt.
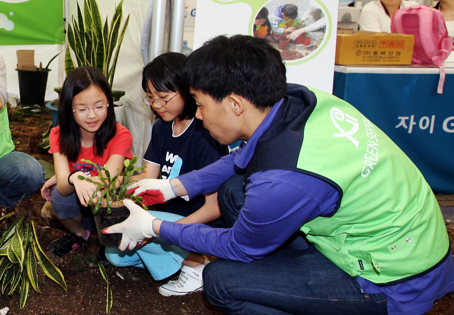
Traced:
<path fill-rule="evenodd" d="M 150 81 L 158 92 L 180 92 L 184 99 L 184 108 L 178 115 L 179 119 L 192 119 L 197 111 L 196 102 L 189 95 L 189 90 L 184 88 L 181 80 L 186 58 L 182 53 L 163 53 L 148 63 L 142 73 L 143 91 L 150 93 L 148 89 L 148 81 Z M 156 114 L 153 107 L 151 110 Z"/>

